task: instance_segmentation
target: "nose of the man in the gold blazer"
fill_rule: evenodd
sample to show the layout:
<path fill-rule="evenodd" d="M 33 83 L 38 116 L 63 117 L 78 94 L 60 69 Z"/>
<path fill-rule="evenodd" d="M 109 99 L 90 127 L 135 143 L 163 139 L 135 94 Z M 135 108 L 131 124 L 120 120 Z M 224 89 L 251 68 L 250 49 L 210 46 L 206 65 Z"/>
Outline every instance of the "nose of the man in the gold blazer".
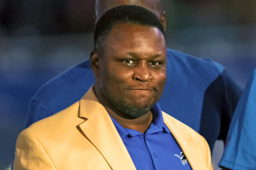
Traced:
<path fill-rule="evenodd" d="M 152 79 L 152 70 L 148 68 L 148 63 L 138 62 L 134 67 L 133 80 L 139 80 L 141 82 L 147 82 Z"/>

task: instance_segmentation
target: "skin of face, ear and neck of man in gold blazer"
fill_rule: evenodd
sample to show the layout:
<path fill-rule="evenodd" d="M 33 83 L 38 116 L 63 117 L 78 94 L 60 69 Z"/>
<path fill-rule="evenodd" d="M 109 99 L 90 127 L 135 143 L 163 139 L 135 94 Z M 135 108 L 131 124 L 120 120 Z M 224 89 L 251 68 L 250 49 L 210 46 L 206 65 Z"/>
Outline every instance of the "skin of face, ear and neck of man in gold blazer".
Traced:
<path fill-rule="evenodd" d="M 151 111 L 131 118 L 115 107 L 103 91 L 133 107 L 151 108 L 162 96 L 166 82 L 164 35 L 155 27 L 116 23 L 100 54 L 95 51 L 90 57 L 96 96 L 120 125 L 144 133 L 152 122 Z"/>

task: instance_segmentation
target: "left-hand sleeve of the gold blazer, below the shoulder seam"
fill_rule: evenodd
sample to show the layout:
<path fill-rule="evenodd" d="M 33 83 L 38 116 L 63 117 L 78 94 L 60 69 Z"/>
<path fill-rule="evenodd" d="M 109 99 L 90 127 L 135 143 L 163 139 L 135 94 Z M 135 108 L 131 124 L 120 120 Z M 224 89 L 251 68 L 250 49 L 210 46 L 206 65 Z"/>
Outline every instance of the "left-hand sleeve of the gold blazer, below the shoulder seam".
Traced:
<path fill-rule="evenodd" d="M 42 143 L 26 129 L 16 142 L 14 170 L 56 170 Z"/>

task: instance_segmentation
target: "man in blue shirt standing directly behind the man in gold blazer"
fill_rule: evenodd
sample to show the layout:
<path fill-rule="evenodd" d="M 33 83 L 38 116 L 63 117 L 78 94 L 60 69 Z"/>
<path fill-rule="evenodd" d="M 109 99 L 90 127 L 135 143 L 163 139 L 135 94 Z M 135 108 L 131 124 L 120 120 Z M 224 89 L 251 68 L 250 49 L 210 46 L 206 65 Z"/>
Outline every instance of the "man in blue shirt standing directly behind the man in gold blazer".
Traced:
<path fill-rule="evenodd" d="M 160 0 L 96 0 L 96 21 L 108 9 L 124 4 L 147 8 L 165 27 Z M 216 139 L 226 139 L 241 90 L 224 67 L 210 59 L 171 49 L 167 56 L 168 79 L 159 104 L 163 111 L 200 133 L 212 150 Z M 89 60 L 46 83 L 30 102 L 25 127 L 74 104 L 93 83 Z"/>

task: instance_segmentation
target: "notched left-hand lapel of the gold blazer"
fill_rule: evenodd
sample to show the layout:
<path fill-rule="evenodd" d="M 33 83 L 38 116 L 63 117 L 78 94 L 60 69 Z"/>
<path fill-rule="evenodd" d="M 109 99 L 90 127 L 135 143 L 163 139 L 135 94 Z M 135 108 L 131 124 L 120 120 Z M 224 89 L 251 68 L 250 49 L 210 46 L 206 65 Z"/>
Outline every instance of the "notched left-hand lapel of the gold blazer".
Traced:
<path fill-rule="evenodd" d="M 120 138 L 106 109 L 98 102 L 92 87 L 80 100 L 79 125 L 84 135 L 104 156 L 113 170 L 136 170 L 130 154 Z"/>

